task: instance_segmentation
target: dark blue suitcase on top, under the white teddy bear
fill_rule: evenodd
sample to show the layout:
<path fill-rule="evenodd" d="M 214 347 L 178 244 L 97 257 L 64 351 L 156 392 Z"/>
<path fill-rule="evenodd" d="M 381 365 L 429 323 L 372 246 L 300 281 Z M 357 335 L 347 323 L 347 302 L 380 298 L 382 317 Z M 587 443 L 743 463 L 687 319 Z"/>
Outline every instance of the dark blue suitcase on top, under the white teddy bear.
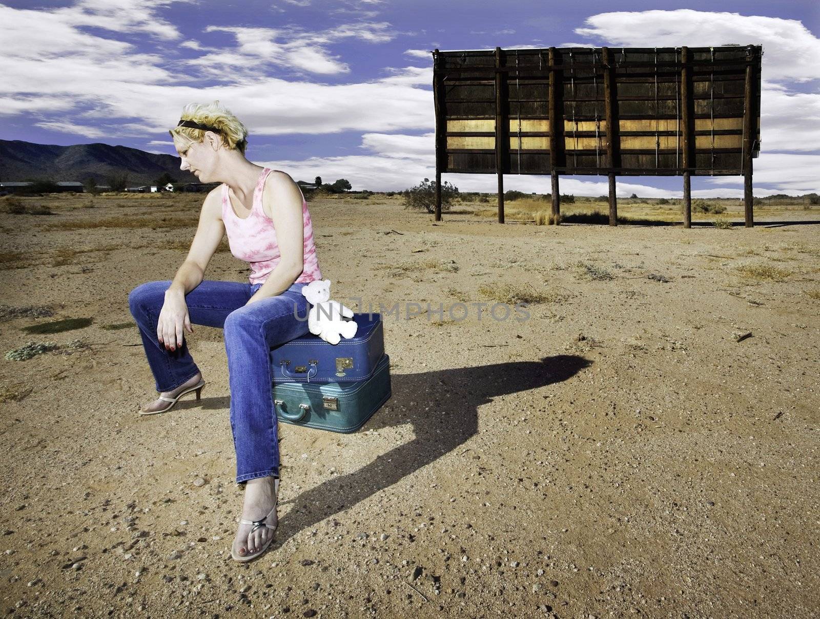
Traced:
<path fill-rule="evenodd" d="M 274 384 L 355 382 L 369 377 L 385 354 L 381 314 L 353 314 L 356 335 L 328 344 L 308 332 L 271 349 Z"/>

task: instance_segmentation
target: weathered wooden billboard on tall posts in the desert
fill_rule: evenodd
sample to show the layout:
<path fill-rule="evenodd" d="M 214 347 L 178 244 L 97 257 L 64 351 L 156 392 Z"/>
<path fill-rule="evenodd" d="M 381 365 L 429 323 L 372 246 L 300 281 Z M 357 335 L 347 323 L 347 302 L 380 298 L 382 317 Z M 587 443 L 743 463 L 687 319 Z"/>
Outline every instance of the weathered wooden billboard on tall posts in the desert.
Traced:
<path fill-rule="evenodd" d="M 753 224 L 752 159 L 760 145 L 759 45 L 549 47 L 433 52 L 436 187 L 442 173 L 609 178 L 743 175 Z M 435 219 L 441 219 L 436 199 Z"/>

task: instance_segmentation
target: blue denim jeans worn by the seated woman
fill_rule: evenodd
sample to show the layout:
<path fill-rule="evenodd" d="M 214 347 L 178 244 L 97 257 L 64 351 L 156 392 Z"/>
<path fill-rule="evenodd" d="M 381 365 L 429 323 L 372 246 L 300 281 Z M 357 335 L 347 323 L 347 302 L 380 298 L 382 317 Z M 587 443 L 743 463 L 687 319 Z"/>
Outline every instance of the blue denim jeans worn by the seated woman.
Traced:
<path fill-rule="evenodd" d="M 157 321 L 169 286 L 170 281 L 148 282 L 128 296 L 157 391 L 172 391 L 199 372 L 187 342 L 171 351 L 157 340 Z M 261 286 L 206 280 L 185 296 L 191 323 L 225 329 L 238 484 L 279 477 L 270 350 L 307 333 L 305 284 L 294 283 L 280 296 L 245 305 Z"/>

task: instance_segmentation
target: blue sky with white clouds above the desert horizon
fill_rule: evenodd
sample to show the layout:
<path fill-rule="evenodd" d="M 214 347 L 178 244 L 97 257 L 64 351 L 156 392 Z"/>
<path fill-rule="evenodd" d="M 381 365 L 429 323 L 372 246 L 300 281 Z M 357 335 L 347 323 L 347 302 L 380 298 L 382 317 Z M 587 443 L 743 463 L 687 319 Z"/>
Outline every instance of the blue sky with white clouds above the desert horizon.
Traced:
<path fill-rule="evenodd" d="M 219 99 L 248 126 L 248 158 L 294 178 L 403 189 L 434 174 L 430 50 L 763 44 L 755 194 L 820 192 L 818 2 L 75 0 L 0 4 L 0 138 L 173 153 L 185 103 Z M 553 15 L 553 11 L 560 11 Z M 494 191 L 485 174 L 445 174 Z M 505 187 L 546 192 L 548 177 Z M 621 178 L 676 197 L 681 178 Z M 606 192 L 563 177 L 562 191 Z M 740 196 L 742 178 L 693 179 Z"/>

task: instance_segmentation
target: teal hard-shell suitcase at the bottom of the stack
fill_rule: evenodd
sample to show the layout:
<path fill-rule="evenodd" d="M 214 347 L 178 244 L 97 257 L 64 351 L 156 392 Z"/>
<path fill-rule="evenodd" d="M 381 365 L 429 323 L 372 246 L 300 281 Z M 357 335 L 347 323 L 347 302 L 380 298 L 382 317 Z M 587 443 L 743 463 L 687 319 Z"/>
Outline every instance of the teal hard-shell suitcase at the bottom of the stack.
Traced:
<path fill-rule="evenodd" d="M 356 382 L 278 382 L 273 401 L 280 422 L 332 432 L 354 432 L 389 400 L 390 359 Z"/>

